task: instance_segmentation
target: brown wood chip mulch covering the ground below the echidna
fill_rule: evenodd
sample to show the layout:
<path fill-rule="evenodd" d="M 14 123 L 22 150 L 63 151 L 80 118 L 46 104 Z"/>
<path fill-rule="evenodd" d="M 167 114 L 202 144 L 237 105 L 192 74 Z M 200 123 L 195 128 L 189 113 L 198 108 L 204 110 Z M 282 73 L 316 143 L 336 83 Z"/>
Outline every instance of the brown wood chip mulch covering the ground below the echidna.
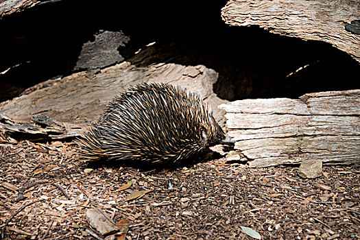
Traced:
<path fill-rule="evenodd" d="M 317 179 L 224 159 L 91 169 L 76 153 L 73 143 L 0 143 L 3 239 L 253 239 L 241 226 L 262 239 L 360 238 L 360 168 L 323 167 Z M 123 232 L 101 235 L 89 208 Z"/>

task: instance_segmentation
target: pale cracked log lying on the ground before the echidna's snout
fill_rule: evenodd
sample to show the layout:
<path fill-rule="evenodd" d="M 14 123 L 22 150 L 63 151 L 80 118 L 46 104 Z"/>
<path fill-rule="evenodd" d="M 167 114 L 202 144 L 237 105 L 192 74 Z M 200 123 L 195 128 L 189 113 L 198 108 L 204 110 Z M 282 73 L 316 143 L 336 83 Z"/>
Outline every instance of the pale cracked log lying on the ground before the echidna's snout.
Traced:
<path fill-rule="evenodd" d="M 360 90 L 310 93 L 300 99 L 245 99 L 221 104 L 229 136 L 250 167 L 320 159 L 360 165 Z"/>

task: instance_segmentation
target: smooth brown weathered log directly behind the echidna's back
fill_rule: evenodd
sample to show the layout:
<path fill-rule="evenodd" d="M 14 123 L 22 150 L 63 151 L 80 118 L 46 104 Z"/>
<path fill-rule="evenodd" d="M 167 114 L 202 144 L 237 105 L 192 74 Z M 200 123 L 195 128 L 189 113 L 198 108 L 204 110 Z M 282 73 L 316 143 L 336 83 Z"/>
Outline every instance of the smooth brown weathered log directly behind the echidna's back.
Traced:
<path fill-rule="evenodd" d="M 225 111 L 217 106 L 228 101 L 213 93 L 217 77 L 217 72 L 203 65 L 164 63 L 135 67 L 122 62 L 98 72 L 82 71 L 1 103 L 0 129 L 16 139 L 33 141 L 75 137 L 100 117 L 115 95 L 141 82 L 167 82 L 197 92 L 213 109 L 215 119 L 224 125 Z"/>

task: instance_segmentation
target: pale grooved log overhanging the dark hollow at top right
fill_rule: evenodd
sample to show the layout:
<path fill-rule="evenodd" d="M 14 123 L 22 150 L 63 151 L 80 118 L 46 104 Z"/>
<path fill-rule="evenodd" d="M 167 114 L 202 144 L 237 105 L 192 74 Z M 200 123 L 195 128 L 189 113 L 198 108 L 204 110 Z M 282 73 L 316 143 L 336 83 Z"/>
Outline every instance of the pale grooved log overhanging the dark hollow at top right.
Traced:
<path fill-rule="evenodd" d="M 346 23 L 360 19 L 358 0 L 231 0 L 221 15 L 229 25 L 259 25 L 275 34 L 322 40 L 360 62 L 360 35 L 345 29 Z"/>

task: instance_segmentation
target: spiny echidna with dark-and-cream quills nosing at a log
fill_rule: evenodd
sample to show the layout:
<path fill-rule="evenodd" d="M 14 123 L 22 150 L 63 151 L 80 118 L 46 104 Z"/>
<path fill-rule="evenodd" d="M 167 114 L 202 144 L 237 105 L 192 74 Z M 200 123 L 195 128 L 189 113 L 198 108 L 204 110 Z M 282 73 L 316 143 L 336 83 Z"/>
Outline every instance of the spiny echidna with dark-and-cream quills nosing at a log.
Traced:
<path fill-rule="evenodd" d="M 225 139 L 196 93 L 169 84 L 139 84 L 106 106 L 78 140 L 87 160 L 180 163 Z"/>

